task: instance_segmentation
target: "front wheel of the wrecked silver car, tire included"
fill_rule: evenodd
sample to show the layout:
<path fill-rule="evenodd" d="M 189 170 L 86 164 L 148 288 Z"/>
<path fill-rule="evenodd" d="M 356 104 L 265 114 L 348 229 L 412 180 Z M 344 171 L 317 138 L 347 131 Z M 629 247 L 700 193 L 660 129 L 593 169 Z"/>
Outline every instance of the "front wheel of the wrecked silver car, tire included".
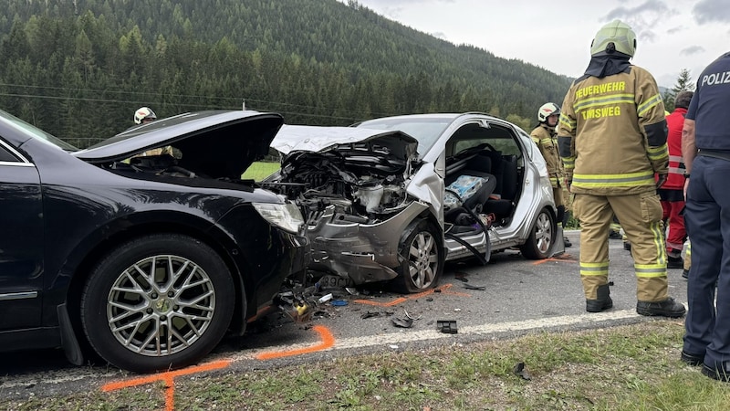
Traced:
<path fill-rule="evenodd" d="M 401 267 L 393 279 L 396 290 L 415 293 L 438 285 L 443 272 L 444 252 L 439 229 L 424 219 L 406 228 L 398 246 Z"/>

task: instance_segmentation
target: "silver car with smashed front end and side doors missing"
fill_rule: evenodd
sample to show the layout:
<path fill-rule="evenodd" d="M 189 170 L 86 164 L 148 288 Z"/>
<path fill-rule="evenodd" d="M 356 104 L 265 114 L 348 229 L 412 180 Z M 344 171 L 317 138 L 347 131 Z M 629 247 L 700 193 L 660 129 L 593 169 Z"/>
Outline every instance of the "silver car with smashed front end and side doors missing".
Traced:
<path fill-rule="evenodd" d="M 282 166 L 265 184 L 302 208 L 309 269 L 330 278 L 420 292 L 447 260 L 564 251 L 545 160 L 508 121 L 470 112 L 285 125 L 272 147 Z"/>

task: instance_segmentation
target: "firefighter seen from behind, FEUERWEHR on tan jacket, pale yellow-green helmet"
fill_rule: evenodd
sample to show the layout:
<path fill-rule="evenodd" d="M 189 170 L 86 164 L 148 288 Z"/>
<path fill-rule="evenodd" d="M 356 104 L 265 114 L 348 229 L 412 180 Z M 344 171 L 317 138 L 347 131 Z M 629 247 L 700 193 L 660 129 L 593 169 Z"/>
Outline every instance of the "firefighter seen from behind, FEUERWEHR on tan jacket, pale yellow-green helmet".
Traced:
<path fill-rule="evenodd" d="M 636 311 L 681 317 L 684 306 L 668 293 L 662 205 L 666 180 L 664 103 L 652 75 L 629 61 L 636 51 L 630 26 L 614 20 L 590 45 L 586 72 L 563 101 L 558 148 L 566 185 L 580 220 L 580 279 L 586 311 L 613 307 L 609 290 L 609 227 L 613 215 L 631 241 Z M 659 174 L 659 182 L 654 181 Z"/>

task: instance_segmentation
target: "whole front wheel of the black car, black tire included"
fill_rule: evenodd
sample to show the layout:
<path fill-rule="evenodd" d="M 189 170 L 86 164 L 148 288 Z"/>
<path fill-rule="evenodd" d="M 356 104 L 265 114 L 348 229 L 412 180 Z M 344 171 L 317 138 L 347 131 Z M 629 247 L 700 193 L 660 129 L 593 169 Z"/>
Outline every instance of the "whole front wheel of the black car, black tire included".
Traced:
<path fill-rule="evenodd" d="M 151 373 L 210 353 L 234 306 L 231 272 L 213 248 L 193 237 L 159 234 L 133 239 L 102 258 L 83 290 L 80 313 L 104 360 Z"/>

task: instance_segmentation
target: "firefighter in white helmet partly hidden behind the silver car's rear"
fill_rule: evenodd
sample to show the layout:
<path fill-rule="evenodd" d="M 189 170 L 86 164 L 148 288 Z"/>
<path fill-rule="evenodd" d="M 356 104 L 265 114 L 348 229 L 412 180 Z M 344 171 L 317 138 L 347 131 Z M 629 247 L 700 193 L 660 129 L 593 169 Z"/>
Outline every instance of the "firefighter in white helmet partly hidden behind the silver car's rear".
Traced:
<path fill-rule="evenodd" d="M 547 163 L 547 175 L 550 176 L 550 184 L 553 186 L 553 198 L 555 205 L 558 207 L 558 224 L 566 227 L 568 224 L 568 214 L 565 212 L 565 202 L 563 201 L 563 163 L 560 161 L 558 153 L 558 138 L 555 132 L 555 126 L 558 125 L 560 116 L 560 108 L 554 102 L 547 102 L 540 106 L 537 110 L 537 121 L 539 124 L 530 133 L 532 141 L 537 144 L 540 153 Z M 563 237 L 565 247 L 571 247 L 568 237 Z"/>

